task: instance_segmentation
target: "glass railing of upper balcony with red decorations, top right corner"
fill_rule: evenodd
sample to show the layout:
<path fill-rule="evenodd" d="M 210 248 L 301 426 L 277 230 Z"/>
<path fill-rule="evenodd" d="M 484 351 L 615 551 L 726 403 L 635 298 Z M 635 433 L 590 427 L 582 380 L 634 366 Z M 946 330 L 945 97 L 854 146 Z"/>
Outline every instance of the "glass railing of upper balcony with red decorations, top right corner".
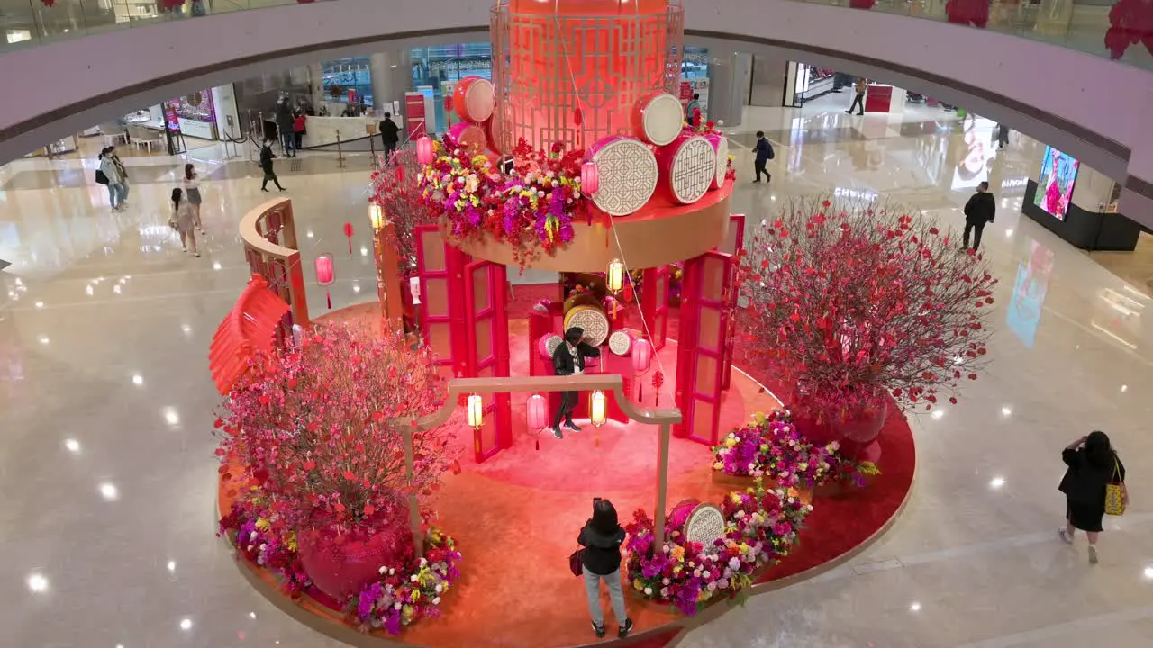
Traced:
<path fill-rule="evenodd" d="M 812 5 L 857 7 L 868 0 L 797 0 Z M 1093 54 L 1110 56 L 1105 35 L 1109 30 L 1109 9 L 1117 0 L 987 0 L 988 16 L 984 29 L 1011 33 L 1031 40 L 1052 43 Z M 1128 2 L 1126 2 L 1128 3 Z M 1139 2 L 1138 2 L 1139 3 Z M 864 9 L 852 9 L 864 10 Z M 945 0 L 876 0 L 871 12 L 902 14 L 914 18 L 948 22 L 954 16 L 980 13 L 980 0 L 960 0 L 947 9 Z M 978 22 L 979 22 L 978 17 Z M 979 29 L 970 27 L 970 29 Z M 964 58 L 964 52 L 957 52 Z M 1153 69 L 1153 55 L 1140 43 L 1130 45 L 1120 58 L 1123 63 Z M 1038 74 L 1057 70 L 1038 70 Z"/>

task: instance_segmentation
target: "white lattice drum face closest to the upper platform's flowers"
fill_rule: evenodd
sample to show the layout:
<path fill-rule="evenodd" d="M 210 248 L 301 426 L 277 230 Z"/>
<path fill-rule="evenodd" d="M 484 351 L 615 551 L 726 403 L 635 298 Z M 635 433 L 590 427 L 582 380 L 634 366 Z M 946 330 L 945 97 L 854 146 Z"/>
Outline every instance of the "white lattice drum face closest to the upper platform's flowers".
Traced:
<path fill-rule="evenodd" d="M 713 148 L 709 146 L 711 151 Z M 593 203 L 609 216 L 628 216 L 645 206 L 656 190 L 656 156 L 633 137 L 605 137 L 593 145 L 601 188 Z"/>

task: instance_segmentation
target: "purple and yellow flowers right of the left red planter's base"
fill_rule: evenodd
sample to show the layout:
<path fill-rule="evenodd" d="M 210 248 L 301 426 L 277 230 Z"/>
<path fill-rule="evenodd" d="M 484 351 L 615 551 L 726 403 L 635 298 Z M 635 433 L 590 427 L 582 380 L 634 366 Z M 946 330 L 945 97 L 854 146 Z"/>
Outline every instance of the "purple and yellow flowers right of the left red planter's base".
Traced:
<path fill-rule="evenodd" d="M 383 627 L 400 634 L 401 626 L 416 619 L 440 616 L 440 597 L 460 578 L 460 558 L 455 542 L 431 529 L 424 556 L 415 565 L 382 566 L 380 580 L 349 598 L 346 609 L 363 632 Z"/>

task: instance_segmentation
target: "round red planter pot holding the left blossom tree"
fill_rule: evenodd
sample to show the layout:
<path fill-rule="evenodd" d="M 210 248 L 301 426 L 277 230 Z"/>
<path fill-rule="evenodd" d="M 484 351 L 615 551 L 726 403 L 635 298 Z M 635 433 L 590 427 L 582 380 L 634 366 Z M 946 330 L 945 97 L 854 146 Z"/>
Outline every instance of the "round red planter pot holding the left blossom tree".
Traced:
<path fill-rule="evenodd" d="M 382 566 L 400 567 L 413 559 L 412 535 L 404 525 L 366 534 L 337 534 L 327 526 L 296 533 L 300 560 L 312 583 L 344 602 L 379 577 Z"/>

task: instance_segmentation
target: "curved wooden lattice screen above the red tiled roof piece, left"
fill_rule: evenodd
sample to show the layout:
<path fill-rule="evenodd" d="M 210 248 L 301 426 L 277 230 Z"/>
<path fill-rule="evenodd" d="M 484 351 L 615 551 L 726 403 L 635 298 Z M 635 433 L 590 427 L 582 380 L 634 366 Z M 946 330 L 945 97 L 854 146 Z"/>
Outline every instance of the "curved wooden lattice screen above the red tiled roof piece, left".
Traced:
<path fill-rule="evenodd" d="M 240 238 L 253 274 L 264 277 L 269 289 L 291 308 L 278 332 L 277 341 L 282 344 L 292 336 L 293 324 L 306 329 L 311 324 L 292 201 L 277 198 L 246 213 L 240 219 Z"/>

